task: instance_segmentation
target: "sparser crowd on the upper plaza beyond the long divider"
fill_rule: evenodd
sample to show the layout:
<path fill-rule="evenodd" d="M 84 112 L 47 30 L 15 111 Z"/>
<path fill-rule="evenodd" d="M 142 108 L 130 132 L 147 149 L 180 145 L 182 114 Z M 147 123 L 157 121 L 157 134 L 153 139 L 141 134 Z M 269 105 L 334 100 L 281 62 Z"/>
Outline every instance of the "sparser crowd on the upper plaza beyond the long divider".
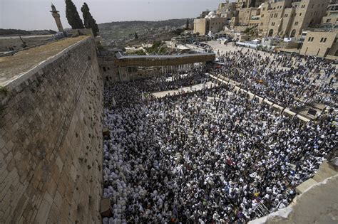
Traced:
<path fill-rule="evenodd" d="M 301 110 L 306 105 L 337 107 L 337 69 L 329 60 L 315 57 L 235 50 L 220 56 L 224 66 L 213 74 L 239 82 L 282 107 Z"/>

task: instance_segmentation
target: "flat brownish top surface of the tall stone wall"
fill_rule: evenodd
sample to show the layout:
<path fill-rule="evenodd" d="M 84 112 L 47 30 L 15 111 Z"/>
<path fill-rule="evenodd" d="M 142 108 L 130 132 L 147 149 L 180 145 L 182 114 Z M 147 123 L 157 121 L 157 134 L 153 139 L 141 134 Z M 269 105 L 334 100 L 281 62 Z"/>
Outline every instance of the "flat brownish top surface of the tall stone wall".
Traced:
<path fill-rule="evenodd" d="M 9 84 L 9 82 L 16 80 L 29 70 L 85 38 L 88 38 L 88 36 L 66 38 L 43 46 L 21 50 L 14 55 L 0 57 L 0 86 Z"/>

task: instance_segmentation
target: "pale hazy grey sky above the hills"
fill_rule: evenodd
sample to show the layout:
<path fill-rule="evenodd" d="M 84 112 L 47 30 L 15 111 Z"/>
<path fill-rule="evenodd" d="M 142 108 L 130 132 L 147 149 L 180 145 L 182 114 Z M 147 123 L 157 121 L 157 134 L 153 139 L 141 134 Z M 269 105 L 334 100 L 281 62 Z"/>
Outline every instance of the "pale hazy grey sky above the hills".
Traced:
<path fill-rule="evenodd" d="M 224 0 L 73 0 L 81 18 L 81 6 L 86 2 L 98 23 L 193 18 L 205 9 L 217 9 L 222 1 Z M 60 11 L 63 28 L 70 27 L 66 20 L 64 0 L 52 2 Z M 0 28 L 56 31 L 50 10 L 51 0 L 0 0 Z"/>

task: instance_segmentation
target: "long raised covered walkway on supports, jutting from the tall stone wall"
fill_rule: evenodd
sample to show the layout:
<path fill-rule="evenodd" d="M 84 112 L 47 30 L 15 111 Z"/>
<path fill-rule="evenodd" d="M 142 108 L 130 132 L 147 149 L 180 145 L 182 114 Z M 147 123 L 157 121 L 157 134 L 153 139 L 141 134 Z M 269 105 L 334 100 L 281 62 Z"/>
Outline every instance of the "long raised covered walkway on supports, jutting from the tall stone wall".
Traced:
<path fill-rule="evenodd" d="M 127 82 L 193 68 L 194 63 L 209 63 L 215 53 L 181 55 L 125 55 L 121 50 L 98 54 L 98 64 L 105 82 Z"/>

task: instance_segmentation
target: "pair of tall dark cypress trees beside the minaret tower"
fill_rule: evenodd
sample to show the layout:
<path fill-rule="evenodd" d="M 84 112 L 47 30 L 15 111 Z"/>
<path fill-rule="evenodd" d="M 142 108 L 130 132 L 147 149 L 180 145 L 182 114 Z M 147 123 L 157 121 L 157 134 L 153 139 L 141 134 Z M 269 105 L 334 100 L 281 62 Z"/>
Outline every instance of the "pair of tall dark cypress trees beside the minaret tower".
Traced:
<path fill-rule="evenodd" d="M 69 25 L 71 25 L 71 28 L 91 28 L 94 36 L 98 36 L 98 24 L 96 23 L 96 20 L 93 18 L 93 16 L 91 16 L 91 12 L 89 11 L 89 7 L 86 2 L 83 3 L 81 11 L 83 22 L 78 15 L 78 11 L 75 4 L 73 4 L 73 1 L 66 0 L 66 18 Z"/>

